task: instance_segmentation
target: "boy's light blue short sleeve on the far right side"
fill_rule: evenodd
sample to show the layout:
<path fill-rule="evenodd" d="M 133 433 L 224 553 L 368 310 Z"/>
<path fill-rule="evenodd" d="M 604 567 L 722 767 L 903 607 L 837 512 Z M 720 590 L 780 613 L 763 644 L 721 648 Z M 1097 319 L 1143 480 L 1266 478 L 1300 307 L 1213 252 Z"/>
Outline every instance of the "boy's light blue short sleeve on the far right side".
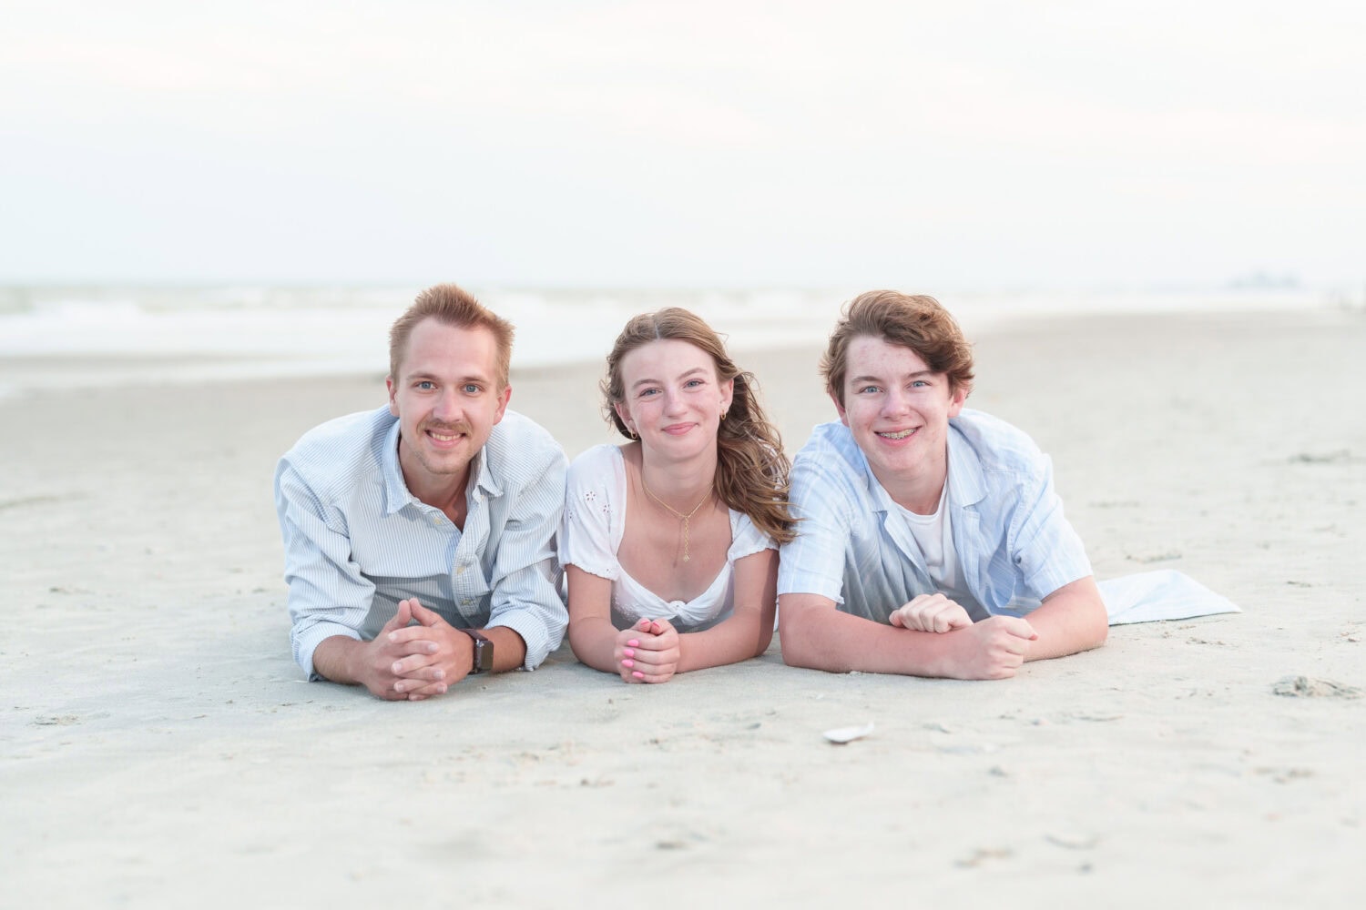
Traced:
<path fill-rule="evenodd" d="M 1007 543 L 1024 593 L 1042 600 L 1091 574 L 1091 562 L 1053 490 L 1052 458 L 1038 458 L 1037 471 L 1020 486 Z"/>

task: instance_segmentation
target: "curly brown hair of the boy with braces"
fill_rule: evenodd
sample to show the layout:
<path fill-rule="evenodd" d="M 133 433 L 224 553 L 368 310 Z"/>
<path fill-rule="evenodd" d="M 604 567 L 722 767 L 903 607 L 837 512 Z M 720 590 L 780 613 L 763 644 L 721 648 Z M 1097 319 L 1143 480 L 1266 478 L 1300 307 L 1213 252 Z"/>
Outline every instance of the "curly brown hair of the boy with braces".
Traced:
<path fill-rule="evenodd" d="M 840 407 L 844 405 L 850 344 L 862 337 L 910 348 L 930 370 L 947 375 L 953 392 L 962 389 L 967 394 L 973 390 L 973 345 L 938 300 L 899 291 L 869 291 L 844 306 L 821 355 L 825 389 Z"/>

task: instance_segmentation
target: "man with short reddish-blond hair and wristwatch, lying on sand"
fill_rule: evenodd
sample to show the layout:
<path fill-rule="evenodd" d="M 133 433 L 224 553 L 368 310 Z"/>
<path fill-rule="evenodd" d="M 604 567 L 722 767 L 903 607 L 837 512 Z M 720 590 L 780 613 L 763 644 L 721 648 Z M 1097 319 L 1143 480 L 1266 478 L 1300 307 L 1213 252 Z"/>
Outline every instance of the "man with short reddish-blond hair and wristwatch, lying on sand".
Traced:
<path fill-rule="evenodd" d="M 389 332 L 389 401 L 280 460 L 294 656 L 388 700 L 535 669 L 568 622 L 555 532 L 564 452 L 508 411 L 512 326 L 436 285 Z"/>

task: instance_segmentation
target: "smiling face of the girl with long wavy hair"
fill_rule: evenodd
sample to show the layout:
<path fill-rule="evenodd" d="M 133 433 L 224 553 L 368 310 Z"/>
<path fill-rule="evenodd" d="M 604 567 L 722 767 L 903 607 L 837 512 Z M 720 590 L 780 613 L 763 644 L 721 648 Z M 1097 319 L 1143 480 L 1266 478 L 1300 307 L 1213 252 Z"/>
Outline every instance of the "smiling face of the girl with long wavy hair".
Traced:
<path fill-rule="evenodd" d="M 717 379 L 709 353 L 675 338 L 650 341 L 622 357 L 622 379 L 613 407 L 647 452 L 671 460 L 716 452 L 734 381 Z"/>

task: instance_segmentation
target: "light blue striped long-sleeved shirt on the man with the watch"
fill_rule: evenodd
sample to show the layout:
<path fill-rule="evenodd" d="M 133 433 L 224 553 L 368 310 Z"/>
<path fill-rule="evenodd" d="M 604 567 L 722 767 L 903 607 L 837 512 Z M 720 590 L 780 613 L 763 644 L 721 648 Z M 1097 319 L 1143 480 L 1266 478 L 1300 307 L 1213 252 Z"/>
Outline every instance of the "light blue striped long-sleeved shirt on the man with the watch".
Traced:
<path fill-rule="evenodd" d="M 564 452 L 508 411 L 471 467 L 462 533 L 408 493 L 388 407 L 324 423 L 280 458 L 290 639 L 310 677 L 324 639 L 373 639 L 407 598 L 458 628 L 515 630 L 527 670 L 559 647 L 568 623 L 555 558 Z"/>

